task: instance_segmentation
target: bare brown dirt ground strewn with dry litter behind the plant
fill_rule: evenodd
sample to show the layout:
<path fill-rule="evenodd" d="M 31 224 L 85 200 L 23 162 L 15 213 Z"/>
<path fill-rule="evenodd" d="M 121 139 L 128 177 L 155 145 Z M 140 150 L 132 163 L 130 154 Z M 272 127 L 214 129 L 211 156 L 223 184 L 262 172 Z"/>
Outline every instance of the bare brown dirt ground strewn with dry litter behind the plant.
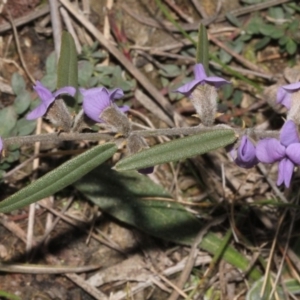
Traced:
<path fill-rule="evenodd" d="M 107 26 L 105 23 L 107 10 L 104 9 L 107 2 L 109 1 L 89 1 L 90 12 L 87 16 L 101 32 L 106 30 Z M 199 22 L 200 16 L 190 1 L 178 0 L 168 2 L 175 3 L 180 8 L 180 11 L 190 18 L 191 23 Z M 219 2 L 198 1 L 205 18 L 214 16 Z M 9 10 L 12 18 L 16 21 L 28 15 L 33 9 L 38 9 L 43 5 L 44 1 L 13 0 L 8 1 L 4 5 L 2 13 L 5 15 L 6 10 Z M 239 1 L 222 1 L 221 10 L 218 13 L 224 14 L 240 7 Z M 140 22 L 137 18 L 132 17 L 128 13 L 128 9 L 137 18 L 144 18 L 145 22 Z M 123 53 L 130 49 L 129 53 L 134 65 L 147 76 L 149 82 L 156 86 L 163 95 L 167 96 L 167 91 L 162 86 L 159 77 L 159 65 L 173 62 L 172 56 L 156 56 L 152 55 L 151 51 L 146 52 L 143 49 L 151 47 L 154 51 L 156 48 L 159 49 L 160 47 L 180 42 L 183 39 L 182 36 L 178 32 L 167 32 L 145 24 L 147 19 L 150 18 L 164 21 L 162 12 L 158 9 L 156 2 L 152 0 L 115 0 L 110 16 L 114 22 L 111 24 L 119 26 L 118 28 L 123 30 L 122 34 L 127 40 L 120 41 L 115 35 L 111 39 L 118 46 L 123 47 Z M 176 16 L 175 13 L 174 16 Z M 178 18 L 178 16 L 176 17 Z M 244 18 L 249 18 L 249 15 L 245 15 Z M 182 19 L 179 19 L 179 21 L 182 21 Z M 6 22 L 7 18 L 5 17 L 1 24 L 3 25 Z M 1 24 L 1 82 L 10 86 L 12 74 L 19 72 L 26 78 L 26 84 L 30 89 L 31 83 L 23 70 L 12 30 L 1 31 Z M 78 26 L 78 22 L 75 22 L 75 25 Z M 217 31 L 226 26 L 229 26 L 227 22 L 218 22 L 212 23 L 209 28 Z M 17 30 L 27 68 L 36 80 L 40 80 L 45 75 L 46 58 L 54 49 L 49 13 L 34 21 L 25 22 L 25 24 L 17 26 Z M 80 32 L 80 30 L 77 32 Z M 93 42 L 93 37 L 86 32 L 82 33 L 82 36 L 80 37 L 82 43 L 84 39 L 86 39 L 87 43 Z M 272 51 L 272 47 L 261 51 L 260 55 L 262 57 L 271 55 L 267 51 Z M 178 54 L 178 52 L 173 50 L 170 53 Z M 109 63 L 115 65 L 118 62 L 115 58 L 110 57 Z M 178 65 L 184 65 L 185 63 L 182 57 L 178 58 Z M 282 77 L 280 70 L 283 69 L 283 63 L 284 61 L 279 57 L 276 60 L 276 64 L 274 64 L 274 61 L 266 62 L 263 68 L 267 70 L 266 73 L 273 73 Z M 269 85 L 271 84 L 269 83 Z M 248 93 L 243 97 L 241 107 L 235 110 L 232 109 L 231 113 L 233 115 L 231 116 L 226 113 L 220 116 L 219 122 L 228 122 L 230 124 L 233 118 L 238 118 L 245 112 L 245 107 L 252 107 L 252 111 L 257 112 L 256 123 L 264 124 L 269 115 L 271 115 L 272 120 L 274 118 L 280 119 L 280 117 L 275 117 L 273 112 L 260 110 L 265 105 L 265 102 L 263 102 L 265 100 L 261 99 L 261 97 L 258 98 L 262 102 L 259 102 L 260 100 L 257 98 L 254 99 L 249 87 L 244 86 L 241 88 L 244 88 L 244 91 Z M 15 96 L 12 92 L 3 91 L 2 89 L 0 109 L 11 105 L 14 99 Z M 145 109 L 140 102 L 134 99 L 131 99 L 131 101 L 133 103 L 132 107 L 149 118 L 152 124 L 157 127 L 167 126 L 162 120 L 159 120 Z M 187 99 L 182 99 L 178 102 L 170 101 L 170 103 L 187 124 L 195 124 L 195 119 L 191 117 L 193 107 Z M 227 111 L 227 108 L 231 109 L 230 104 L 224 110 Z M 248 113 L 249 111 L 250 113 Z M 251 109 L 247 110 L 245 120 L 248 124 L 253 122 Z M 44 131 L 51 129 L 49 129 L 51 126 L 47 122 L 43 126 Z M 32 156 L 32 150 L 28 148 L 25 150 L 23 161 L 25 158 Z M 63 160 L 63 157 L 55 159 L 42 158 L 40 160 L 40 173 L 52 169 Z M 222 185 L 222 174 L 220 174 L 218 167 L 220 165 L 226 168 L 226 174 L 231 180 L 229 187 L 226 187 L 225 190 Z M 228 201 L 230 202 L 234 201 L 235 197 L 238 199 L 240 199 L 239 197 L 247 198 L 249 194 L 254 200 L 255 196 L 253 197 L 253 195 L 256 195 L 258 198 L 264 195 L 265 199 L 273 195 L 269 184 L 261 181 L 262 175 L 259 172 L 248 172 L 236 168 L 228 161 L 228 158 L 222 151 L 190 159 L 188 162 L 182 163 L 182 167 L 172 168 L 170 165 L 159 166 L 155 171 L 155 175 L 150 175 L 150 178 L 163 186 L 174 199 L 182 202 L 187 199 L 201 200 L 207 193 L 210 193 L 212 198 L 218 199 L 217 201 L 219 201 L 220 205 L 222 201 L 225 201 L 224 199 L 229 199 Z M 193 176 L 196 168 L 202 172 L 200 172 L 202 174 L 200 179 L 197 178 L 198 175 Z M 36 178 L 35 172 L 32 172 L 31 167 L 24 168 L 22 172 L 22 174 L 18 172 L 13 173 L 1 183 L 1 199 L 4 199 L 7 195 L 12 194 Z M 274 171 L 270 170 L 272 179 L 275 179 L 274 174 Z M 260 182 L 259 184 L 257 184 L 258 181 Z M 238 188 L 235 190 L 232 186 Z M 194 209 L 191 207 L 189 209 L 198 216 L 198 208 Z M 203 213 L 204 218 L 210 220 L 210 214 L 218 209 L 218 205 L 213 209 L 204 207 L 201 213 Z M 229 210 L 230 206 L 227 209 Z M 264 217 L 261 216 L 261 212 L 257 211 L 259 216 L 254 213 L 254 217 L 251 214 L 246 216 L 242 227 L 247 227 L 247 220 L 250 222 L 250 227 L 253 231 L 248 231 L 251 232 L 249 239 L 259 235 L 261 235 L 260 241 L 265 238 L 265 235 L 260 232 L 257 223 L 264 223 L 264 226 L 269 228 L 270 232 L 273 232 L 272 222 L 275 222 L 278 215 L 276 213 L 273 214 L 272 209 L 268 210 L 266 208 L 266 210 Z M 228 213 L 230 215 L 230 212 Z M 17 268 L 10 269 L 8 267 L 7 271 L 1 271 L 0 291 L 19 297 L 13 298 L 11 296 L 10 298 L 9 295 L 0 294 L 0 299 L 168 299 L 174 290 L 173 284 L 177 282 L 178 276 L 183 269 L 183 267 L 180 267 L 180 263 L 190 253 L 189 247 L 154 238 L 118 221 L 105 212 L 101 212 L 96 205 L 87 201 L 73 187 L 67 188 L 58 196 L 44 199 L 40 204 L 36 205 L 33 237 L 30 238 L 30 248 L 26 250 L 26 241 L 29 238 L 27 235 L 29 214 L 29 208 L 27 207 L 0 216 L 0 261 L 2 264 L 6 263 L 8 266 Z M 65 218 L 62 218 L 62 216 L 65 216 Z M 252 217 L 253 219 L 251 219 Z M 55 226 L 51 228 L 51 224 L 55 224 Z M 51 228 L 49 234 L 47 234 L 46 228 Z M 222 225 L 220 228 L 222 232 Z M 198 258 L 201 258 L 201 261 L 198 261 L 198 267 L 195 267 L 193 275 L 187 281 L 187 288 L 194 285 L 198 274 L 205 273 L 212 257 L 205 251 L 199 251 Z M 28 269 L 26 264 L 29 266 Z M 60 270 L 56 266 L 63 266 L 65 269 Z M 174 266 L 178 267 L 178 271 L 172 269 Z M 23 267 L 24 269 L 22 269 Z M 90 270 L 82 269 L 80 271 L 79 268 L 81 267 L 90 267 Z M 74 271 L 72 268 L 77 269 Z M 221 271 L 224 275 L 226 270 L 228 271 L 231 268 L 228 263 L 222 262 L 218 269 L 222 269 L 223 271 Z M 169 273 L 163 273 L 166 270 Z M 208 285 L 218 282 L 217 272 L 218 270 L 213 272 Z M 233 276 L 238 275 L 234 273 Z M 232 291 L 229 291 L 230 288 L 232 288 Z M 135 289 L 136 292 L 132 296 L 130 291 Z M 236 296 L 239 294 L 241 296 L 236 296 L 234 299 L 245 299 L 245 292 L 243 292 L 245 285 L 242 281 L 236 284 L 228 283 L 226 289 L 227 292 L 224 292 L 220 298 L 213 299 L 229 299 L 230 295 Z M 184 299 L 183 296 L 180 297 Z"/>

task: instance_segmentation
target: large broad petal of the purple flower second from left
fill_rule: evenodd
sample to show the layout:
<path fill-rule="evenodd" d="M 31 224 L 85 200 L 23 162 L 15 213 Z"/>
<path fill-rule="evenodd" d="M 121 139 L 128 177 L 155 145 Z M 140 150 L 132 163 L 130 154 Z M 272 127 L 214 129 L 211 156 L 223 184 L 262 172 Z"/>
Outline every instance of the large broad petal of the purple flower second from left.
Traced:
<path fill-rule="evenodd" d="M 79 89 L 83 95 L 83 110 L 88 117 L 101 123 L 100 115 L 105 108 L 111 105 L 106 88 Z"/>

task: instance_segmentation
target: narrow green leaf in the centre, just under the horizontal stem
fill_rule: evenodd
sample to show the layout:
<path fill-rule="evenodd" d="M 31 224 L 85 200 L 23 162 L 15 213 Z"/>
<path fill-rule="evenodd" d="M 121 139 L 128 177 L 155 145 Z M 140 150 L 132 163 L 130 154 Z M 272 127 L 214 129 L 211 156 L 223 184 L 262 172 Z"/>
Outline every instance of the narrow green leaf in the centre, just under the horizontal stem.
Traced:
<path fill-rule="evenodd" d="M 236 140 L 233 130 L 220 129 L 173 140 L 125 157 L 116 164 L 119 171 L 142 169 L 186 159 L 225 147 Z"/>

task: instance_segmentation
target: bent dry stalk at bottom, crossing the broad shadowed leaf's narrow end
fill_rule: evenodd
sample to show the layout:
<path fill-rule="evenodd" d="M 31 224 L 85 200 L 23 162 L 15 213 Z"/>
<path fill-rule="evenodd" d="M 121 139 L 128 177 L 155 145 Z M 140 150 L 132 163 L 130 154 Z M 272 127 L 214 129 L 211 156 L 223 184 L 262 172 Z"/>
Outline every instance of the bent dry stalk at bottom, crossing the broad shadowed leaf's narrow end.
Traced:
<path fill-rule="evenodd" d="M 189 254 L 189 257 L 187 259 L 186 265 L 185 265 L 182 273 L 180 274 L 179 280 L 176 284 L 176 286 L 179 289 L 183 288 L 184 284 L 186 283 L 186 281 L 188 280 L 188 278 L 191 274 L 191 271 L 194 267 L 195 260 L 197 258 L 197 254 L 198 254 L 197 249 L 198 249 L 199 244 L 202 242 L 202 239 L 204 238 L 204 236 L 207 234 L 207 232 L 209 231 L 209 229 L 212 226 L 216 226 L 216 225 L 222 223 L 224 220 L 225 220 L 225 217 L 220 217 L 220 218 L 217 218 L 215 220 L 212 220 L 211 222 L 206 224 L 200 230 L 198 235 L 195 237 L 195 240 L 194 240 L 192 248 L 190 250 L 190 254 Z M 177 300 L 178 297 L 179 297 L 178 292 L 176 290 L 174 290 L 168 300 Z"/>

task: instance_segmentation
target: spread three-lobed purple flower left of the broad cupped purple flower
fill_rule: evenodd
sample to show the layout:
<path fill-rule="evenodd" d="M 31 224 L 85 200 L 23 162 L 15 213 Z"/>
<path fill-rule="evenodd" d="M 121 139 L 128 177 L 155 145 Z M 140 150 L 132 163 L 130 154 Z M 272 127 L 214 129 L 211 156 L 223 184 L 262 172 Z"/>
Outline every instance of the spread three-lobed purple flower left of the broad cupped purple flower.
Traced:
<path fill-rule="evenodd" d="M 36 82 L 36 85 L 33 86 L 33 88 L 39 95 L 42 102 L 26 116 L 27 120 L 34 120 L 39 117 L 42 117 L 47 112 L 47 109 L 54 102 L 57 96 L 61 94 L 69 94 L 71 96 L 74 96 L 76 93 L 76 89 L 72 86 L 65 86 L 61 89 L 58 89 L 56 92 L 52 93 L 39 81 Z"/>

